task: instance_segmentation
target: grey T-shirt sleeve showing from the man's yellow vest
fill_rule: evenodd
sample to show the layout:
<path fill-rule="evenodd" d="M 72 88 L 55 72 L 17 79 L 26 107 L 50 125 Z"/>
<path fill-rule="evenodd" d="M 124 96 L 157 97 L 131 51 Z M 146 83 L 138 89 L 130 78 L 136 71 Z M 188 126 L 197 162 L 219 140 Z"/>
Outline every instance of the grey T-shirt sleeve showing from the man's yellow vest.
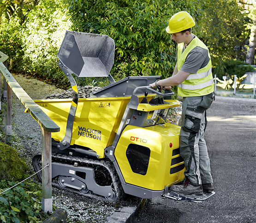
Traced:
<path fill-rule="evenodd" d="M 184 48 L 185 49 L 185 48 Z M 185 59 L 185 62 L 181 66 L 181 70 L 188 73 L 196 73 L 199 69 L 205 67 L 210 58 L 208 57 L 208 51 L 206 49 L 201 48 L 200 46 L 196 46 L 193 50 L 191 50 Z"/>

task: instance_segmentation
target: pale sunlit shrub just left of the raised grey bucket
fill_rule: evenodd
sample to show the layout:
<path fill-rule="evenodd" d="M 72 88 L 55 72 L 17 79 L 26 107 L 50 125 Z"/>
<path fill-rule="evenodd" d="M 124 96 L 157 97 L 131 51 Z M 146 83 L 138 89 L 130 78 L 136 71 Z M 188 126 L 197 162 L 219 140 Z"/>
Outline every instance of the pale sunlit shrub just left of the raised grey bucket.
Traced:
<path fill-rule="evenodd" d="M 40 1 L 23 29 L 24 71 L 42 76 L 57 86 L 68 86 L 58 66 L 57 53 L 70 23 L 61 0 Z"/>

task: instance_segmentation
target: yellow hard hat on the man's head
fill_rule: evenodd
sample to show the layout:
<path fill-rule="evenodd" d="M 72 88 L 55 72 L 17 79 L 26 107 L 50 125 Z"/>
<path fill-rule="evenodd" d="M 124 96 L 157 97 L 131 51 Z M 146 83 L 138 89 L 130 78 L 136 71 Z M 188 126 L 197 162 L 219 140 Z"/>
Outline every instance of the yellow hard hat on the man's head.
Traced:
<path fill-rule="evenodd" d="M 189 29 L 195 25 L 194 19 L 186 11 L 180 11 L 174 14 L 169 20 L 169 26 L 167 26 L 167 33 L 179 33 L 185 29 Z"/>

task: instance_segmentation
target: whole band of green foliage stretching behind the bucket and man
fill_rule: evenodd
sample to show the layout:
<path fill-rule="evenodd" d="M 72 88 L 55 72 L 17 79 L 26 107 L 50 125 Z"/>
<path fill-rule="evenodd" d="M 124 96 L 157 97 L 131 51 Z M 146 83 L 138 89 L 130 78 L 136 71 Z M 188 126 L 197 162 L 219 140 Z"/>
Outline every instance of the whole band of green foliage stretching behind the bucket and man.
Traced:
<path fill-rule="evenodd" d="M 18 12 L 8 20 L 0 15 L 0 51 L 9 56 L 12 72 L 42 77 L 61 87 L 70 87 L 56 57 L 67 29 L 107 34 L 114 39 L 111 74 L 115 80 L 172 74 L 175 43 L 165 29 L 178 11 L 188 11 L 195 18 L 193 33 L 209 47 L 218 71 L 223 71 L 223 59 L 238 58 L 234 47 L 244 45 L 246 39 L 244 14 L 236 0 L 40 0 L 33 6 L 26 4 L 30 3 L 24 2 L 23 18 Z M 4 3 L 0 6 L 7 7 Z M 106 84 L 104 78 L 78 82 Z"/>

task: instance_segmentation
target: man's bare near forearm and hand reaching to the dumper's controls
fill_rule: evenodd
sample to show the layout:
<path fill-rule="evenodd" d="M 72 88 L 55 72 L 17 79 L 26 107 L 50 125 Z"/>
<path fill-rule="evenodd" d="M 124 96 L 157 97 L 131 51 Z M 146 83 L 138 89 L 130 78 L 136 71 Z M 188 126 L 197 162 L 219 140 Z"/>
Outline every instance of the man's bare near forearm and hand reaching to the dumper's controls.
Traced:
<path fill-rule="evenodd" d="M 177 71 L 178 71 L 178 70 L 177 70 Z M 156 84 L 157 84 L 158 86 L 164 87 L 164 89 L 171 89 L 171 86 L 181 84 L 184 80 L 187 79 L 187 77 L 188 77 L 189 74 L 191 74 L 191 73 L 188 73 L 188 72 L 179 70 L 179 72 L 177 72 L 177 73 L 175 74 L 175 69 L 174 69 L 173 74 L 174 74 L 174 75 L 171 76 L 171 77 L 168 77 L 168 78 L 163 79 L 163 80 L 158 80 Z M 156 87 L 156 86 L 155 86 L 155 83 L 152 83 L 152 84 L 150 84 L 149 86 L 151 86 L 151 87 L 153 87 L 153 88 Z"/>

